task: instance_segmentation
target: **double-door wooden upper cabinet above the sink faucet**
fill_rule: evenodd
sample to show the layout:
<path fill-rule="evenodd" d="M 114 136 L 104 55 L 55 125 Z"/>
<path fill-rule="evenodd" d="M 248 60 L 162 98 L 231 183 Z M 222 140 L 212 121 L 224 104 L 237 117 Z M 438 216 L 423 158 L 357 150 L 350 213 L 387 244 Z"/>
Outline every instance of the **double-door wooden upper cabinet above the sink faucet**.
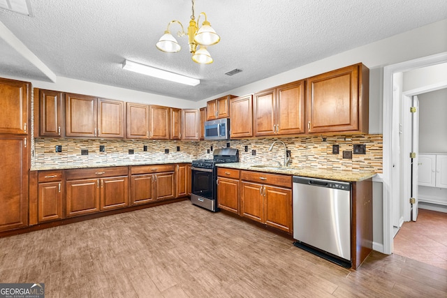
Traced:
<path fill-rule="evenodd" d="M 305 81 L 284 84 L 254 95 L 254 135 L 305 133 Z"/>

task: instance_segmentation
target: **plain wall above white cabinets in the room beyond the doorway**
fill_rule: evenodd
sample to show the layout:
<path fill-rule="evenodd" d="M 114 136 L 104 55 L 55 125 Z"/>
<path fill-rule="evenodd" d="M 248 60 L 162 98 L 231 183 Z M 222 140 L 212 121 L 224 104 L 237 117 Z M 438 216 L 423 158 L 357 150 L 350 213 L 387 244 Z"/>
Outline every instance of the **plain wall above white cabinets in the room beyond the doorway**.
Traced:
<path fill-rule="evenodd" d="M 418 95 L 419 152 L 447 153 L 447 89 Z"/>

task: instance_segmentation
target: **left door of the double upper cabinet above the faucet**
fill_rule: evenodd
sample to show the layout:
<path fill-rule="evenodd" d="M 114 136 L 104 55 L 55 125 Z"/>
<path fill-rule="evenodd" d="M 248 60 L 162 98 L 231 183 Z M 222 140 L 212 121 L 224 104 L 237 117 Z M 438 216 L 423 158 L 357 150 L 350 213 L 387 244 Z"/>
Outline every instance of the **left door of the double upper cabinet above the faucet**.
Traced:
<path fill-rule="evenodd" d="M 276 132 L 276 89 L 254 94 L 254 135 L 274 135 Z"/>

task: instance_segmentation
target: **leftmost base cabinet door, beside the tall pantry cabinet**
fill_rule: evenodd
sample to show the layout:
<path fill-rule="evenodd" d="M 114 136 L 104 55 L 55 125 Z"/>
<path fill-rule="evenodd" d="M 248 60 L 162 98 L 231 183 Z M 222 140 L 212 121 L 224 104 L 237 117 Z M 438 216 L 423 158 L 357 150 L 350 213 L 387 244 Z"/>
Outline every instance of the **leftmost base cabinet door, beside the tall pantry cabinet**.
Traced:
<path fill-rule="evenodd" d="M 61 181 L 39 183 L 38 185 L 38 222 L 53 221 L 62 218 Z"/>

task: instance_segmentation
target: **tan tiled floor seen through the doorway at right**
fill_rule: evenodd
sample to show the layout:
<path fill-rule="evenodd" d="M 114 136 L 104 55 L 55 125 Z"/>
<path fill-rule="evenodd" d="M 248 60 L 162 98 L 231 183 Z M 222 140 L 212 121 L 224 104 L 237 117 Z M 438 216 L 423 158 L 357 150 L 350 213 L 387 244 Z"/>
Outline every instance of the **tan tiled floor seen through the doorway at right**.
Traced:
<path fill-rule="evenodd" d="M 419 209 L 416 222 L 405 222 L 393 242 L 393 252 L 447 269 L 447 213 Z"/>

